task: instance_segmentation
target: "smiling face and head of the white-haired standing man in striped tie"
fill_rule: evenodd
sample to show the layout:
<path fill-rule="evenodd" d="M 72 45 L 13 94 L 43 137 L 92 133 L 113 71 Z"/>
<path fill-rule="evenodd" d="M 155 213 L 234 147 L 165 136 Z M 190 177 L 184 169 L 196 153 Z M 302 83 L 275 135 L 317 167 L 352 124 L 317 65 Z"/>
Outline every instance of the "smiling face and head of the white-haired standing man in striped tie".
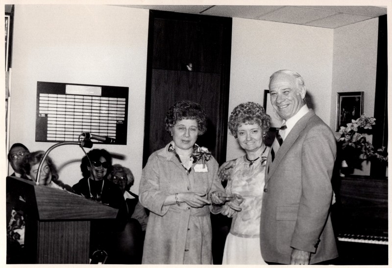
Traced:
<path fill-rule="evenodd" d="M 288 120 L 305 104 L 306 90 L 298 88 L 296 78 L 287 73 L 277 73 L 270 80 L 271 104 L 278 115 Z"/>

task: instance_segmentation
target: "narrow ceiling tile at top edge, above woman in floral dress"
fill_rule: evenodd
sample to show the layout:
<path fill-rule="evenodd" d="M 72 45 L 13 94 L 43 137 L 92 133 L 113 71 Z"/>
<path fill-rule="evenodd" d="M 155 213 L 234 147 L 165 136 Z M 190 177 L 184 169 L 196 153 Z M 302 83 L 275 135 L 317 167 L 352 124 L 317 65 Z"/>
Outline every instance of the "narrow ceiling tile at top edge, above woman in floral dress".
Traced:
<path fill-rule="evenodd" d="M 215 5 L 203 12 L 203 15 L 258 19 L 276 9 L 282 8 L 279 5 Z"/>

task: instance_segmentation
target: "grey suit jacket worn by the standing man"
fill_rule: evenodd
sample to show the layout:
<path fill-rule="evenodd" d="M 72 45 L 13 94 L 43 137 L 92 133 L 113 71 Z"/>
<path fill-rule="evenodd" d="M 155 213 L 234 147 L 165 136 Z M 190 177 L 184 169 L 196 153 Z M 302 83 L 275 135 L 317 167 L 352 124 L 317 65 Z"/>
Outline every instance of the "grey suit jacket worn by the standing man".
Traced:
<path fill-rule="evenodd" d="M 310 263 L 338 256 L 329 208 L 336 140 L 310 109 L 275 154 L 269 155 L 260 224 L 267 262 L 290 264 L 293 248 L 312 252 Z"/>

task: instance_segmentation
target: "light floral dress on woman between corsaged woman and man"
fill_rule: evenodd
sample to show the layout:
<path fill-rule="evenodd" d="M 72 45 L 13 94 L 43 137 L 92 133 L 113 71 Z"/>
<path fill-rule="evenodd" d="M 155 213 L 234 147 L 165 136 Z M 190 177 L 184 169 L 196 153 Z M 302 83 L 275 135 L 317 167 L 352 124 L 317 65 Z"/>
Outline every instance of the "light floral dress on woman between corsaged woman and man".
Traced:
<path fill-rule="evenodd" d="M 233 214 L 223 253 L 223 264 L 266 264 L 260 252 L 260 215 L 266 160 L 269 147 L 251 164 L 245 155 L 236 159 L 226 195 L 239 194 L 244 200 L 240 212 Z M 225 204 L 223 214 L 231 208 Z M 226 212 L 226 213 L 225 213 Z"/>

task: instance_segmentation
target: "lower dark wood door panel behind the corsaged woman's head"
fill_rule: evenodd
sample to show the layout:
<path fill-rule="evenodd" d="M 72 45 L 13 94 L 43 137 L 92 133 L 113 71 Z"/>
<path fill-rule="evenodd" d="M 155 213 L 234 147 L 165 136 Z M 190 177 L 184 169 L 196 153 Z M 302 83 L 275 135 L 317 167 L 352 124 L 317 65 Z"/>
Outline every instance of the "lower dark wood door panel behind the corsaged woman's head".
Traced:
<path fill-rule="evenodd" d="M 172 138 L 165 129 L 165 113 L 174 103 L 174 100 L 191 99 L 200 103 L 205 109 L 209 119 L 219 116 L 217 104 L 219 103 L 221 77 L 217 73 L 178 72 L 167 70 L 152 71 L 152 94 L 149 124 L 149 154 L 164 147 Z M 205 98 L 208 96 L 208 99 Z M 199 136 L 197 144 L 208 147 L 213 154 L 219 150 L 217 133 L 217 121 L 209 120 L 207 132 Z"/>

